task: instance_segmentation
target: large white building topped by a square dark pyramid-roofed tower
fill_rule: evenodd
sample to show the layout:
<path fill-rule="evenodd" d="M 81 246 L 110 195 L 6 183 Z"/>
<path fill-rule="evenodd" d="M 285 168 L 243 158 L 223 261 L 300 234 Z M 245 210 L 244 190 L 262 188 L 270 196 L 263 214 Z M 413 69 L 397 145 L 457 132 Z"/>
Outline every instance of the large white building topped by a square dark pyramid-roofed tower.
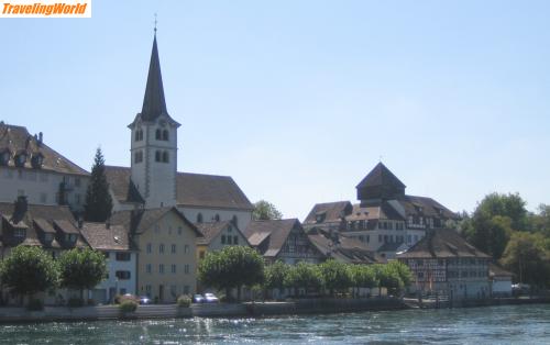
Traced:
<path fill-rule="evenodd" d="M 444 229 L 457 214 L 431 198 L 408 196 L 406 186 L 380 163 L 356 186 L 359 203 L 318 203 L 304 227 L 322 227 L 363 242 L 387 258 L 420 241 L 427 230 Z"/>

